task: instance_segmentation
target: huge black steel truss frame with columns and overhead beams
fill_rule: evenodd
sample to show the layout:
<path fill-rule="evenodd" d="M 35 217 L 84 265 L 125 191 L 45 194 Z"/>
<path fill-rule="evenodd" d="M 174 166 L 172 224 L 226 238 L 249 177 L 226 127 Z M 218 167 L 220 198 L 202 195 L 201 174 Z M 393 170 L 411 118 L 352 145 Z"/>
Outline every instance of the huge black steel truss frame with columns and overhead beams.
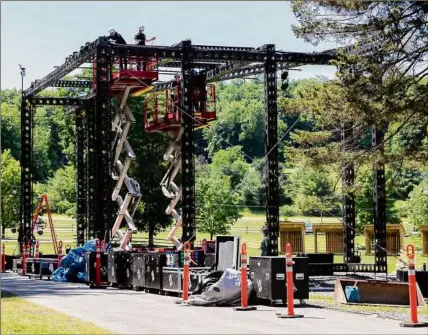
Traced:
<path fill-rule="evenodd" d="M 358 53 L 372 52 L 372 45 L 366 48 L 354 46 L 345 49 Z M 362 51 L 361 51 L 362 50 Z M 78 129 L 78 244 L 82 243 L 82 232 L 79 227 L 87 227 L 86 239 L 95 237 L 109 238 L 111 227 L 111 201 L 109 199 L 111 180 L 109 171 L 110 162 L 110 74 L 113 59 L 117 57 L 156 57 L 159 60 L 158 68 L 181 68 L 182 80 L 182 204 L 183 204 L 183 242 L 195 238 L 195 189 L 194 189 L 194 130 L 193 130 L 193 101 L 190 70 L 198 68 L 206 70 L 207 82 L 233 79 L 238 77 L 265 74 L 265 108 L 266 108 L 266 167 L 269 170 L 267 180 L 267 224 L 270 234 L 269 254 L 278 254 L 279 210 L 278 210 L 278 153 L 277 142 L 277 110 L 276 110 L 276 71 L 305 64 L 330 64 L 337 55 L 337 50 L 327 50 L 317 53 L 299 53 L 276 51 L 274 45 L 261 48 L 192 45 L 191 41 L 183 41 L 171 47 L 165 46 L 136 46 L 115 45 L 108 42 L 106 37 L 99 37 L 91 43 L 86 43 L 80 51 L 74 52 L 66 58 L 63 65 L 58 66 L 41 80 L 33 82 L 29 89 L 23 92 L 21 107 L 21 230 L 20 240 L 29 235 L 31 225 L 31 152 L 32 152 L 32 106 L 56 105 L 74 106 L 77 110 L 83 107 L 86 111 L 86 122 L 76 119 Z M 78 68 L 83 63 L 96 62 L 96 92 L 89 98 L 54 98 L 36 97 L 47 87 L 76 87 L 91 88 L 91 81 L 63 80 L 66 74 Z M 152 92 L 171 87 L 173 81 L 157 83 Z M 86 127 L 85 127 L 86 125 Z M 83 134 L 83 135 L 82 135 Z M 85 142 L 85 139 L 87 140 Z M 87 148 L 86 156 L 83 154 Z M 379 171 L 379 170 L 377 170 Z M 377 185 L 382 174 L 376 177 Z M 347 183 L 351 182 L 348 176 Z M 80 181 L 80 182 L 79 182 Z M 86 190 L 85 190 L 86 187 Z M 379 188 L 379 187 L 378 187 Z M 84 194 L 82 197 L 81 195 Z M 82 199 L 87 196 L 87 203 L 83 206 Z M 379 197 L 377 197 L 379 200 Z M 348 200 L 344 200 L 344 202 Z M 380 213 L 382 201 L 377 202 L 377 212 Z M 380 204 L 380 205 L 379 205 Z M 349 212 L 349 211 L 348 211 Z M 377 220 L 379 221 L 379 214 Z M 86 220 L 86 221 L 85 221 Z M 348 221 L 352 219 L 349 218 Z M 355 225 L 355 215 L 354 215 Z M 352 226 L 352 222 L 350 226 Z M 80 225 L 80 226 L 79 226 Z M 379 226 L 379 224 L 378 224 Z M 345 234 L 349 242 L 351 237 Z M 378 232 L 379 236 L 379 232 Z M 346 255 L 351 255 L 353 247 L 346 246 Z M 376 251 L 377 264 L 381 266 L 381 254 Z M 349 258 L 348 258 L 349 261 Z M 381 264 L 382 263 L 382 264 Z M 386 263 L 385 263 L 386 264 Z"/>

